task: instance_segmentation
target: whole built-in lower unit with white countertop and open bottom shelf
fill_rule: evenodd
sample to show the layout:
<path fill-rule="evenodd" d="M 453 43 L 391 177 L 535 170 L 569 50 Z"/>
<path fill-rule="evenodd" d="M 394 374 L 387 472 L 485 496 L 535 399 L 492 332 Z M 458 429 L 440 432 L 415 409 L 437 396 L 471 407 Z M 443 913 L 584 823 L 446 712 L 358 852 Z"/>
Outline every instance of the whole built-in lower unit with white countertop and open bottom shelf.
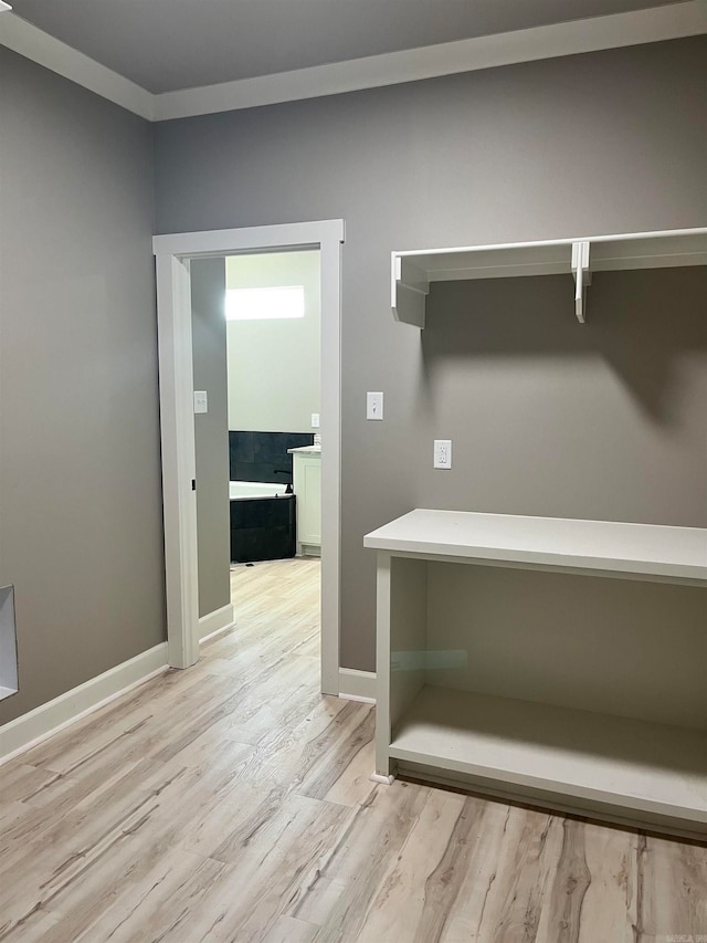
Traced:
<path fill-rule="evenodd" d="M 707 530 L 416 510 L 368 534 L 365 545 L 378 551 L 374 778 L 390 782 L 400 768 L 418 777 L 461 783 L 561 811 L 589 811 L 704 838 L 704 682 L 700 673 L 690 674 L 692 682 L 685 679 L 686 684 L 694 685 L 692 692 L 683 692 L 690 699 L 693 713 L 688 723 L 678 724 L 669 698 L 661 703 L 650 678 L 661 678 L 662 659 L 667 670 L 675 646 L 685 638 L 696 641 L 697 649 L 679 654 L 684 664 L 704 658 L 707 651 Z M 453 579 L 449 578 L 451 569 Z M 657 653 L 655 649 L 641 650 L 641 624 L 633 627 L 637 651 L 630 649 L 626 656 L 621 639 L 615 646 L 610 642 L 600 659 L 624 659 L 625 663 L 619 674 L 612 663 L 605 677 L 590 679 L 594 703 L 588 710 L 587 691 L 578 683 L 576 693 L 572 678 L 567 677 L 573 667 L 579 680 L 580 659 L 567 658 L 566 651 L 562 666 L 561 651 L 558 656 L 547 650 L 537 662 L 541 670 L 547 666 L 547 688 L 540 682 L 537 696 L 520 696 L 514 684 L 524 689 L 523 659 L 513 646 L 498 642 L 494 625 L 478 624 L 477 612 L 469 606 L 473 595 L 469 597 L 464 588 L 475 579 L 472 593 L 478 593 L 478 580 L 498 577 L 574 580 L 564 584 L 570 589 L 560 608 L 547 614 L 549 621 L 555 620 L 551 631 L 560 641 L 577 629 L 572 607 L 582 605 L 581 599 L 573 600 L 579 583 L 590 594 L 594 587 L 608 588 L 610 600 L 621 589 L 616 579 L 631 580 L 636 594 L 672 594 L 665 609 L 669 615 L 658 626 Z M 550 608 L 557 588 L 555 585 L 546 594 Z M 683 610 L 679 605 L 673 610 L 673 605 L 680 603 L 674 594 L 689 595 L 683 596 L 687 604 Z M 493 593 L 490 598 L 492 611 L 496 611 L 498 600 Z M 633 598 L 637 600 L 639 596 Z M 532 639 L 524 638 L 524 604 L 514 605 L 518 607 L 515 638 L 532 646 Z M 503 609 L 503 599 L 500 606 Z M 692 635 L 680 636 L 679 611 L 692 612 Z M 631 621 L 630 616 L 621 612 L 620 628 Z M 598 642 L 591 637 L 591 619 L 588 622 L 585 618 L 583 625 L 589 625 L 589 631 L 587 637 L 580 633 L 576 638 L 579 648 L 574 651 L 584 647 L 588 658 L 595 659 L 592 649 Z M 557 648 L 562 648 L 560 642 Z M 474 666 L 475 658 L 486 658 L 483 669 Z M 555 658 L 560 659 L 558 663 L 553 663 Z M 476 678 L 482 671 L 481 687 L 485 690 L 473 690 L 465 683 L 469 670 L 476 671 Z M 622 677 L 621 671 L 639 690 L 646 679 L 648 690 L 640 694 L 643 712 L 631 715 L 631 711 L 603 709 L 616 703 L 614 694 L 622 696 L 621 691 L 609 690 L 608 682 Z M 510 679 L 507 683 L 505 673 Z M 603 674 L 601 668 L 599 674 Z M 500 689 L 497 693 L 488 690 L 493 683 Z M 678 696 L 678 690 L 674 691 Z"/>

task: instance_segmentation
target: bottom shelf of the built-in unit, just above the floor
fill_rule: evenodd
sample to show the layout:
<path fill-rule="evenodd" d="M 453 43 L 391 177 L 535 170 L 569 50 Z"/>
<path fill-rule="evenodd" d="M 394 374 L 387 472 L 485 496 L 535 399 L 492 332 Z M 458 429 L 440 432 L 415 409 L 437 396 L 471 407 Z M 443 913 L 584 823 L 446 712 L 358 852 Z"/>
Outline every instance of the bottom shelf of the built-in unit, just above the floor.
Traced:
<path fill-rule="evenodd" d="M 425 685 L 389 755 L 707 830 L 707 733 Z M 567 799 L 566 799 L 567 800 Z"/>

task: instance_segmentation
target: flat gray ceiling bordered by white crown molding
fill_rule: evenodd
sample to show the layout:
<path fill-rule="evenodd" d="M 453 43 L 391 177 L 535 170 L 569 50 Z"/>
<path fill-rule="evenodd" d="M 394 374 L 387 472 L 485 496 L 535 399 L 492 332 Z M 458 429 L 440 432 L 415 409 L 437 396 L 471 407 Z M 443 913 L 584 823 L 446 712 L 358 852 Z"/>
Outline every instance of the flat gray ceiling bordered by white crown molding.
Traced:
<path fill-rule="evenodd" d="M 159 94 L 655 8 L 671 0 L 11 2 L 14 15 Z"/>

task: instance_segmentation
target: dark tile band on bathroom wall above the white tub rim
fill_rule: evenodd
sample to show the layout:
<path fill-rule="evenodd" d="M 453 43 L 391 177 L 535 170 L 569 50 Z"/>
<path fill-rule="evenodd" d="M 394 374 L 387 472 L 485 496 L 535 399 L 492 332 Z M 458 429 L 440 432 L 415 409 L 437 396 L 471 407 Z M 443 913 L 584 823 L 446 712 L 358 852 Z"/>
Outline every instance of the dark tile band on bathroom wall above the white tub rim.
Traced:
<path fill-rule="evenodd" d="M 229 431 L 231 481 L 274 481 L 292 484 L 287 449 L 312 446 L 312 432 Z"/>

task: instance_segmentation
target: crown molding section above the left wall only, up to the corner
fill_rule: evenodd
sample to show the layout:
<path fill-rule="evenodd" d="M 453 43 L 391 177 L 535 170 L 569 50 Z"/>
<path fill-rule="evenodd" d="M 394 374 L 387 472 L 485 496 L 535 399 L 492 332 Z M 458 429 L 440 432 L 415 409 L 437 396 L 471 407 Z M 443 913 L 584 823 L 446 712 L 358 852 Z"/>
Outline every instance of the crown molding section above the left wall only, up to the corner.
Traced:
<path fill-rule="evenodd" d="M 152 121 L 155 95 L 117 72 L 77 52 L 17 13 L 0 17 L 0 45 L 31 59 L 116 105 Z"/>

